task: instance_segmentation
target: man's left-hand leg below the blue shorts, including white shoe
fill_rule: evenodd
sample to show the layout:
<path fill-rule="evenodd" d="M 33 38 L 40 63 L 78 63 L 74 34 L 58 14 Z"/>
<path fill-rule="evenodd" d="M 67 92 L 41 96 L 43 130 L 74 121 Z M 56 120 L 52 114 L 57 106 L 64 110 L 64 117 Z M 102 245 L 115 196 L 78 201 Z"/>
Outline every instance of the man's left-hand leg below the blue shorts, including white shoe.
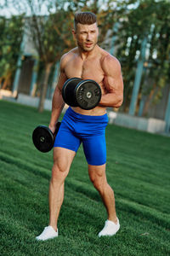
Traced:
<path fill-rule="evenodd" d="M 54 166 L 49 185 L 49 225 L 36 239 L 45 241 L 58 236 L 57 221 L 64 200 L 65 177 L 68 175 L 76 152 L 66 148 L 54 148 Z"/>

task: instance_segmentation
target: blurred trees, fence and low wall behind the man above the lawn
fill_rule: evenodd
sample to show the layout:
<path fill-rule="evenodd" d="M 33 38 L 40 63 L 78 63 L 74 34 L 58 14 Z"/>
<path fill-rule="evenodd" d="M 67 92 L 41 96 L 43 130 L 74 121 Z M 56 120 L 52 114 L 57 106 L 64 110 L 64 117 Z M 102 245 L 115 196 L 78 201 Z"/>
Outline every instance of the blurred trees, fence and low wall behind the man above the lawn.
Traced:
<path fill-rule="evenodd" d="M 124 102 L 111 123 L 170 134 L 170 1 L 1 0 L 0 98 L 51 108 L 77 11 L 94 12 L 99 46 L 122 64 Z"/>

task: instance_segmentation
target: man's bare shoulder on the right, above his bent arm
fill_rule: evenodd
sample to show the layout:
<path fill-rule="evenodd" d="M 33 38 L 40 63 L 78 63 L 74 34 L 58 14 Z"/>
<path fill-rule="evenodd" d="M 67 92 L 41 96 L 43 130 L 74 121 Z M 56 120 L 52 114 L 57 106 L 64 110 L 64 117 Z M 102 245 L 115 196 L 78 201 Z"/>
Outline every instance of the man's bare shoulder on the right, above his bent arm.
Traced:
<path fill-rule="evenodd" d="M 105 49 L 102 50 L 101 67 L 105 73 L 121 72 L 120 62 Z"/>

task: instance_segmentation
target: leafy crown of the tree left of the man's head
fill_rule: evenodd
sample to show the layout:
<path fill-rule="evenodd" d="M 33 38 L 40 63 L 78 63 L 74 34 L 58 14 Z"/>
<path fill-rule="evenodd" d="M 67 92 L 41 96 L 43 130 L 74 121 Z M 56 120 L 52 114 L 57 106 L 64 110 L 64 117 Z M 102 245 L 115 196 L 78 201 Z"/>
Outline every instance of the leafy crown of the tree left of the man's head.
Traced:
<path fill-rule="evenodd" d="M 46 64 L 58 61 L 65 49 L 70 49 L 72 46 L 73 40 L 68 38 L 71 26 L 68 27 L 65 18 L 68 19 L 67 13 L 60 10 L 48 17 L 33 16 L 28 20 L 39 60 Z"/>

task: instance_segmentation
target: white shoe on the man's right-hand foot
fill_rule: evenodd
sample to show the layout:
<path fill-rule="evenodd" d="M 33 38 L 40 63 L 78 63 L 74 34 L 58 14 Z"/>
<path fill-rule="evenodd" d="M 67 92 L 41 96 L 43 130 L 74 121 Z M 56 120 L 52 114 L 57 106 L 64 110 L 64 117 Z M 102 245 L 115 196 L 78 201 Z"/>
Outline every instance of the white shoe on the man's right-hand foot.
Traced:
<path fill-rule="evenodd" d="M 111 220 L 106 220 L 105 227 L 99 232 L 98 236 L 114 236 L 119 229 L 120 224 L 118 218 L 116 224 Z"/>

